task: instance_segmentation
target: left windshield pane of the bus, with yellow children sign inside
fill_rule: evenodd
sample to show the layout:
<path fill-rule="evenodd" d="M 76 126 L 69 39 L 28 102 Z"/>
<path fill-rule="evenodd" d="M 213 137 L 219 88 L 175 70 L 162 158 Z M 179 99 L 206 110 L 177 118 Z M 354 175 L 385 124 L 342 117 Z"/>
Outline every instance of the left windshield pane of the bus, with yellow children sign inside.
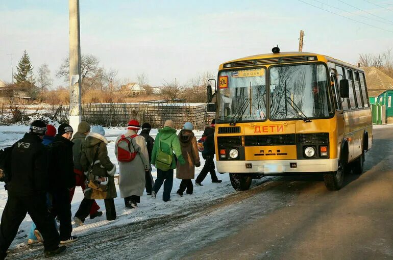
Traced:
<path fill-rule="evenodd" d="M 266 119 L 264 68 L 221 71 L 218 75 L 219 122 Z"/>

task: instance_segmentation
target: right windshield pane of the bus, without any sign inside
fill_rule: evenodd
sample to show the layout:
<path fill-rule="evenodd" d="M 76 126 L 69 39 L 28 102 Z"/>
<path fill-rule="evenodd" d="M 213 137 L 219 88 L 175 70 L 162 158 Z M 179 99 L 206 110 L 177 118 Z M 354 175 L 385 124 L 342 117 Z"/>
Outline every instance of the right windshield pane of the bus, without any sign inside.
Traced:
<path fill-rule="evenodd" d="M 322 64 L 269 68 L 272 120 L 331 115 L 326 67 Z"/>

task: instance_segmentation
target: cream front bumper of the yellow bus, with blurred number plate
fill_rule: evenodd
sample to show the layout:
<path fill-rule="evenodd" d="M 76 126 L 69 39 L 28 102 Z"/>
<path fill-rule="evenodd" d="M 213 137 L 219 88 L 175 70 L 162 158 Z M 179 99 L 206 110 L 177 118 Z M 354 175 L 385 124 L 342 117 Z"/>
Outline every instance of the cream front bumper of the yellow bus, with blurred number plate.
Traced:
<path fill-rule="evenodd" d="M 274 160 L 274 161 L 217 161 L 219 173 L 253 173 L 285 175 L 285 173 L 318 173 L 337 170 L 338 159 Z"/>

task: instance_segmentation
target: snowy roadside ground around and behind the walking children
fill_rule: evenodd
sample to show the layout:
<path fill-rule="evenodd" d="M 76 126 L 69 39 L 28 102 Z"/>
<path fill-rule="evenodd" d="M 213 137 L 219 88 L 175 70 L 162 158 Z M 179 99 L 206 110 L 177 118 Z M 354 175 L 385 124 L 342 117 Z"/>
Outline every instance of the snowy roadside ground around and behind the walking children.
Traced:
<path fill-rule="evenodd" d="M 14 142 L 23 137 L 29 129 L 26 125 L 12 125 L 12 126 L 0 126 L 0 148 L 12 145 Z M 116 138 L 125 133 L 125 128 L 115 128 L 109 127 L 105 128 L 106 138 L 110 141 L 108 144 L 108 155 L 111 161 L 116 164 L 116 169 L 118 173 L 118 164 L 114 153 L 114 141 Z M 194 131 L 197 139 L 202 136 L 203 131 Z M 155 138 L 157 135 L 157 129 L 152 129 L 151 136 Z M 201 167 L 195 169 L 195 177 L 200 173 L 204 160 L 201 158 Z M 152 175 L 154 179 L 157 177 L 157 171 L 153 167 Z M 86 235 L 91 231 L 97 231 L 97 229 L 108 228 L 111 226 L 124 225 L 126 223 L 139 222 L 147 219 L 162 217 L 166 215 L 171 215 L 184 211 L 189 206 L 200 203 L 208 203 L 209 201 L 215 200 L 219 197 L 226 196 L 234 192 L 228 174 L 217 173 L 219 179 L 223 180 L 221 184 L 212 184 L 210 174 L 203 181 L 202 187 L 194 186 L 194 192 L 192 195 L 186 195 L 184 193 L 183 197 L 179 197 L 176 191 L 179 188 L 180 180 L 176 178 L 176 169 L 174 170 L 174 185 L 171 192 L 171 201 L 164 202 L 162 200 L 163 187 L 157 194 L 157 199 L 151 198 L 151 196 L 144 195 L 141 197 L 141 202 L 138 204 L 138 209 L 126 209 L 124 206 L 124 199 L 120 198 L 120 193 L 118 191 L 118 186 L 116 185 L 118 197 L 115 199 L 117 218 L 114 221 L 106 221 L 105 217 L 105 205 L 104 200 L 97 200 L 97 203 L 101 206 L 101 210 L 104 211 L 104 215 L 100 218 L 95 218 L 93 220 L 87 218 L 84 225 L 80 227 L 73 228 L 73 235 Z M 7 191 L 4 189 L 4 183 L 0 183 L 0 214 L 3 213 L 5 204 L 7 202 Z M 78 210 L 79 204 L 83 199 L 82 189 L 77 187 L 75 195 L 72 200 L 72 217 Z M 27 243 L 27 235 L 30 230 L 30 225 L 32 221 L 29 215 L 23 220 L 19 227 L 18 235 L 14 240 L 11 248 L 17 246 L 18 244 Z"/>

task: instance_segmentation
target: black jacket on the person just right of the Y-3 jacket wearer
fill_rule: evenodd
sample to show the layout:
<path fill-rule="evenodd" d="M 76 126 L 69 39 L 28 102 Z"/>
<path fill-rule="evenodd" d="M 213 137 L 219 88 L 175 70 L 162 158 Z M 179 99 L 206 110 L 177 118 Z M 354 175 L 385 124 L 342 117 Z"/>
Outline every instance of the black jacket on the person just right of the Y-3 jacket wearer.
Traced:
<path fill-rule="evenodd" d="M 75 187 L 73 172 L 73 143 L 56 135 L 50 148 L 50 189 L 56 191 Z"/>

